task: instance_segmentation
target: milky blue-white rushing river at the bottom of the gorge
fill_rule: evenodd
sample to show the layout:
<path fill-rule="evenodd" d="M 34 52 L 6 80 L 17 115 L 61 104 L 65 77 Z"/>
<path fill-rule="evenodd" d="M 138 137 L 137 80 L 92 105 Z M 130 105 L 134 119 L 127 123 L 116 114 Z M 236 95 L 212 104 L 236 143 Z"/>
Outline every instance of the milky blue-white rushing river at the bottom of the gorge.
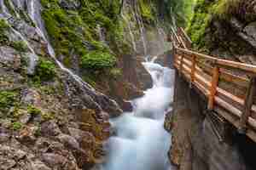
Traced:
<path fill-rule="evenodd" d="M 133 112 L 112 120 L 116 135 L 108 141 L 108 161 L 104 170 L 170 170 L 167 151 L 171 136 L 164 129 L 166 111 L 170 110 L 174 71 L 144 62 L 153 79 L 153 88 L 134 99 Z"/>

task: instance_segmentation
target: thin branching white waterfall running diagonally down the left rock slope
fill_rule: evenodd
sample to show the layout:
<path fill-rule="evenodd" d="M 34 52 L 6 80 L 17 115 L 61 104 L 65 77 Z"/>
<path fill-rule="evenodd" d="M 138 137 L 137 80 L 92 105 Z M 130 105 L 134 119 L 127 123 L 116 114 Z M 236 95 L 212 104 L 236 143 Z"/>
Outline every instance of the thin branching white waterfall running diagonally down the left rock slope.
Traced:
<path fill-rule="evenodd" d="M 28 13 L 29 17 L 35 24 L 35 29 L 38 36 L 40 36 L 44 40 L 44 42 L 47 42 L 48 53 L 50 57 L 55 60 L 56 65 L 58 65 L 63 72 L 66 72 L 68 76 L 73 78 L 74 82 L 77 82 L 77 84 L 79 84 L 79 88 L 83 92 L 84 99 L 86 99 L 86 102 L 84 101 L 84 103 L 86 103 L 89 108 L 93 108 L 97 111 L 102 111 L 102 110 L 106 111 L 108 109 L 111 110 L 111 108 L 116 108 L 116 110 L 114 111 L 121 112 L 121 110 L 119 109 L 119 105 L 117 105 L 117 103 L 113 99 L 109 99 L 106 95 L 97 92 L 87 82 L 84 82 L 82 78 L 73 74 L 73 71 L 68 70 L 64 65 L 61 64 L 61 62 L 58 59 L 55 58 L 54 48 L 52 48 L 52 46 L 48 41 L 49 38 L 48 38 L 47 32 L 45 31 L 44 22 L 41 17 L 42 8 L 41 8 L 40 1 L 15 0 L 15 8 L 19 8 L 19 6 L 22 5 L 21 3 L 24 3 L 24 6 L 27 7 L 26 12 Z M 8 8 L 6 8 L 5 4 L 3 3 L 3 0 L 0 0 L 0 4 L 2 9 L 1 11 L 2 13 L 0 17 L 4 18 L 5 20 L 11 19 L 12 24 L 14 24 L 15 20 L 20 20 L 19 18 L 17 18 L 18 16 L 12 16 L 11 14 L 9 14 Z M 25 23 L 21 23 L 21 24 L 25 24 Z M 11 31 L 17 37 L 19 37 L 20 40 L 26 43 L 27 48 L 31 52 L 31 53 L 27 53 L 29 57 L 29 65 L 28 65 L 27 72 L 28 74 L 32 74 L 37 64 L 36 61 L 38 60 L 38 55 L 35 53 L 33 49 L 34 47 L 32 47 L 31 43 L 29 42 L 31 39 L 27 38 L 25 35 L 22 35 L 20 31 L 15 30 L 15 26 L 14 28 L 13 27 L 11 28 Z"/>

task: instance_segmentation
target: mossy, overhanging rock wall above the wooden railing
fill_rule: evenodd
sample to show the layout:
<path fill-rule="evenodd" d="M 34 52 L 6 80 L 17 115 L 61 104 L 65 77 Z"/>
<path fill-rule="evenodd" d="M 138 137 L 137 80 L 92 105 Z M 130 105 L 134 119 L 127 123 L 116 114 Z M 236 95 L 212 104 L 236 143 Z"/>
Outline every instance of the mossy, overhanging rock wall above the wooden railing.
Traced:
<path fill-rule="evenodd" d="M 255 7 L 253 0 L 198 1 L 186 29 L 194 48 L 255 65 Z"/>

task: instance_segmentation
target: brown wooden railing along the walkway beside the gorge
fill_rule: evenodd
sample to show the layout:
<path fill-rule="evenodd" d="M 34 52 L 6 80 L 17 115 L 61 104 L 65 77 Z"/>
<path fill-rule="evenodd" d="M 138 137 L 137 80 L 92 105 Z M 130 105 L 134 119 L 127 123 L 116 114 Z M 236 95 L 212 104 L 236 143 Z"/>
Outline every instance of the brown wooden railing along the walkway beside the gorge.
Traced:
<path fill-rule="evenodd" d="M 256 65 L 196 53 L 182 28 L 172 32 L 170 41 L 178 75 L 203 94 L 209 111 L 256 142 Z"/>

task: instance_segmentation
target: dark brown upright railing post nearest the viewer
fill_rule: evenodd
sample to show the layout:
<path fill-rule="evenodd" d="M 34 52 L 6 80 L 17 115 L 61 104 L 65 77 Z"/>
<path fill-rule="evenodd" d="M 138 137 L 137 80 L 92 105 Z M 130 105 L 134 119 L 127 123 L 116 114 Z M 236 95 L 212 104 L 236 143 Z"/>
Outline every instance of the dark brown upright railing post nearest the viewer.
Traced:
<path fill-rule="evenodd" d="M 246 133 L 247 121 L 251 116 L 251 110 L 253 106 L 253 97 L 256 95 L 256 77 L 251 77 L 249 86 L 247 88 L 246 99 L 244 101 L 244 107 L 240 119 L 239 133 Z"/>

